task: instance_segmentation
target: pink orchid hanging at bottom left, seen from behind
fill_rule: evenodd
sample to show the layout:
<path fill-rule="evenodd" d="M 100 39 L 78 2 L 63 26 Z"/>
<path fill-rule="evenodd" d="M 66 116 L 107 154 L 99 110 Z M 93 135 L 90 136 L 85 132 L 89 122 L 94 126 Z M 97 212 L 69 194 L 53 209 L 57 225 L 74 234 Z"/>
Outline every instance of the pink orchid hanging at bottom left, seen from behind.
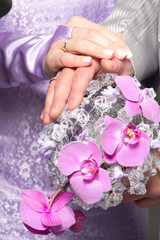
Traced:
<path fill-rule="evenodd" d="M 56 235 L 61 234 L 75 223 L 74 212 L 66 205 L 73 196 L 73 193 L 59 192 L 50 200 L 41 191 L 26 190 L 22 192 L 21 219 L 28 228 L 39 233 L 51 230 Z"/>

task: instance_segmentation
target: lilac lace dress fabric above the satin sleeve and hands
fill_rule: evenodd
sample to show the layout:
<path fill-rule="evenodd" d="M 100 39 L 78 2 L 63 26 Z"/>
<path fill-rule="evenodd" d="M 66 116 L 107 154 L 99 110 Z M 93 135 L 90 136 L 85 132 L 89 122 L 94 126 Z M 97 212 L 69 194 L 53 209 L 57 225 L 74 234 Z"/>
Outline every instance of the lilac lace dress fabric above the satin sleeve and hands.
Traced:
<path fill-rule="evenodd" d="M 12 10 L 1 19 L 0 31 L 53 34 L 58 25 L 66 23 L 72 16 L 83 16 L 101 23 L 112 7 L 113 0 L 14 0 Z"/>

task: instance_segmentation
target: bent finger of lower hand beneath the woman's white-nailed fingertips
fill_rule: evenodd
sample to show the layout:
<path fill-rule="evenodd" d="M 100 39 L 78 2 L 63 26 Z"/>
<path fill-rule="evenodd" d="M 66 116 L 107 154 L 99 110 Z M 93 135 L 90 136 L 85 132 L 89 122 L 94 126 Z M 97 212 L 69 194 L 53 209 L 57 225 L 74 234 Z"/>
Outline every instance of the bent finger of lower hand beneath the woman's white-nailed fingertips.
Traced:
<path fill-rule="evenodd" d="M 130 75 L 133 76 L 134 70 L 132 63 L 128 59 L 119 60 L 117 58 L 102 59 L 102 68 L 108 73 L 117 73 L 119 75 Z"/>

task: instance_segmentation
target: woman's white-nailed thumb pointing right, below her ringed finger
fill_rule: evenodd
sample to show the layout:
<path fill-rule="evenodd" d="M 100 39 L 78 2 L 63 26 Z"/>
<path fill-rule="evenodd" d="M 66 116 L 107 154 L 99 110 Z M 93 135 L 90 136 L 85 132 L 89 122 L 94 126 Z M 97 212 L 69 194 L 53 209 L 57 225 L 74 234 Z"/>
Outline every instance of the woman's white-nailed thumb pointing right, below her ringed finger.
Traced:
<path fill-rule="evenodd" d="M 61 45 L 62 42 L 58 47 L 61 47 Z M 50 48 L 45 59 L 45 71 L 49 76 L 52 76 L 53 72 L 58 72 L 61 68 L 88 66 L 92 61 L 90 56 L 78 56 L 69 52 L 65 53 L 62 50 L 55 49 L 55 47 Z"/>

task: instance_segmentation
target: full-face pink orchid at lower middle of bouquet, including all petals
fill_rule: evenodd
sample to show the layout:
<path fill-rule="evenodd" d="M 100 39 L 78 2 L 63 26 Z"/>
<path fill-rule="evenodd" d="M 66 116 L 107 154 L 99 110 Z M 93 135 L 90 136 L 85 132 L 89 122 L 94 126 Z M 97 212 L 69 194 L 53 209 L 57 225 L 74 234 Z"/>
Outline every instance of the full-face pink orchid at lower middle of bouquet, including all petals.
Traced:
<path fill-rule="evenodd" d="M 103 192 L 111 190 L 107 172 L 100 168 L 101 152 L 94 142 L 72 142 L 59 156 L 59 170 L 68 176 L 70 185 L 85 203 L 98 202 Z"/>

